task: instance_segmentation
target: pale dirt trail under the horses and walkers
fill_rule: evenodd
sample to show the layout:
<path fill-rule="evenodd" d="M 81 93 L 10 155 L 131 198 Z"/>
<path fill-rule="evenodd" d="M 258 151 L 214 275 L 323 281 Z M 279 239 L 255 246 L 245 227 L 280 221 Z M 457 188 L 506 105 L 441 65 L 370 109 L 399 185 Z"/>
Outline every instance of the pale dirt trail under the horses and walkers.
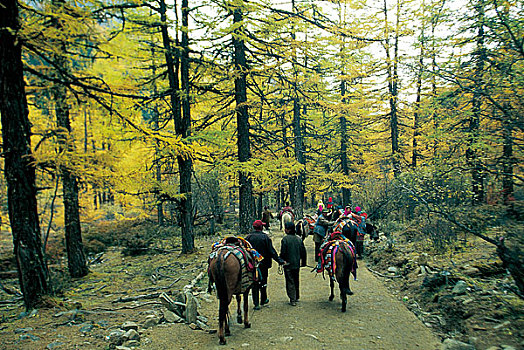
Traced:
<path fill-rule="evenodd" d="M 277 251 L 283 233 L 273 229 Z M 313 242 L 307 238 L 308 265 L 313 265 Z M 329 281 L 302 268 L 301 297 L 297 306 L 288 304 L 284 276 L 273 266 L 269 274 L 270 303 L 254 311 L 250 300 L 252 327 L 244 329 L 231 319 L 227 345 L 218 345 L 216 334 L 192 331 L 186 325 L 161 325 L 149 330 L 149 344 L 141 349 L 387 349 L 436 350 L 440 341 L 400 301 L 392 297 L 360 262 L 358 281 L 350 281 L 355 293 L 348 297 L 348 311 L 340 312 L 338 286 L 335 300 L 328 301 Z M 236 313 L 236 302 L 231 306 Z M 202 302 L 200 312 L 209 325 L 218 325 L 218 301 Z"/>

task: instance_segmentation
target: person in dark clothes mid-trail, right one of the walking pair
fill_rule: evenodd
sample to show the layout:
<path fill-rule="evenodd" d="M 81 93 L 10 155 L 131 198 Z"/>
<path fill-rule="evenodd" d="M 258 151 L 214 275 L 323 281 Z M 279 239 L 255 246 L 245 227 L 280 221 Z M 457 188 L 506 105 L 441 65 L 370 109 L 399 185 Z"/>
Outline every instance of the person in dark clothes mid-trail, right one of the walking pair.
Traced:
<path fill-rule="evenodd" d="M 304 247 L 302 239 L 295 235 L 295 224 L 292 222 L 286 222 L 284 230 L 286 235 L 282 238 L 280 258 L 287 261 L 284 265 L 286 293 L 289 297 L 289 304 L 295 306 L 300 297 L 300 267 L 306 266 L 306 247 Z"/>

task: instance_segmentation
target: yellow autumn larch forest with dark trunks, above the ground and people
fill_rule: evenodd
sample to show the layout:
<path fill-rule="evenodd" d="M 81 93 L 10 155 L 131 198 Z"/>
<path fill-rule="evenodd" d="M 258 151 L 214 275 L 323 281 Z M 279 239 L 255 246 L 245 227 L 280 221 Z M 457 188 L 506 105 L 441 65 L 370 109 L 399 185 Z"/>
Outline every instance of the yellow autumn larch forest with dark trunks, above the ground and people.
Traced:
<path fill-rule="evenodd" d="M 0 5 L 0 230 L 28 310 L 49 261 L 89 273 L 97 225 L 169 227 L 190 256 L 226 214 L 245 234 L 328 197 L 437 251 L 479 238 L 524 295 L 523 2 Z"/>

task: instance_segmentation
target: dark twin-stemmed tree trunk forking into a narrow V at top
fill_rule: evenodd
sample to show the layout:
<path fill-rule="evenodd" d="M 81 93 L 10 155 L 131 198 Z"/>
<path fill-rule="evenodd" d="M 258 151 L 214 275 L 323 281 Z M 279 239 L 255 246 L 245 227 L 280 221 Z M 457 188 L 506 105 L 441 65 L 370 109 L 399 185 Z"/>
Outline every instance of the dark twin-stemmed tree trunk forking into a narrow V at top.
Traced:
<path fill-rule="evenodd" d="M 178 80 L 178 62 L 173 59 L 173 50 L 167 26 L 167 8 L 164 0 L 160 0 L 160 20 L 162 31 L 162 43 L 165 50 L 167 75 L 169 79 L 169 89 L 171 98 L 171 108 L 173 119 L 175 121 L 175 131 L 183 139 L 191 133 L 191 113 L 189 101 L 189 36 L 187 33 L 187 16 L 188 3 L 182 3 L 182 27 L 185 28 L 182 33 L 182 59 L 181 59 L 181 77 L 182 77 L 182 101 L 179 97 L 179 80 Z M 185 19 L 184 19 L 185 18 Z M 185 31 L 185 33 L 184 33 Z M 184 42 L 185 41 L 185 42 Z M 184 46 L 185 45 L 185 46 Z M 191 175 L 193 163 L 190 158 L 177 157 L 178 168 L 180 171 L 180 194 L 182 198 L 179 204 L 180 225 L 182 227 L 182 253 L 187 254 L 195 248 L 195 238 L 193 234 L 193 201 L 191 196 Z"/>

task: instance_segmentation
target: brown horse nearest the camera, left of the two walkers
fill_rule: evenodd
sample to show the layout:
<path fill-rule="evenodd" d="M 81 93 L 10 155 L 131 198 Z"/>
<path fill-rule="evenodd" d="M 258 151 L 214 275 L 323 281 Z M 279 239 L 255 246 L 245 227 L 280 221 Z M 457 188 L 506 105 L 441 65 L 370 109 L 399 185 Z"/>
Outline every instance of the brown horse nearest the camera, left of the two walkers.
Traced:
<path fill-rule="evenodd" d="M 248 321 L 248 295 L 251 285 L 242 286 L 242 265 L 239 259 L 226 248 L 217 250 L 216 255 L 209 260 L 209 281 L 214 282 L 218 299 L 218 337 L 220 344 L 226 344 L 225 335 L 231 335 L 229 330 L 229 304 L 233 295 L 237 299 L 237 322 L 242 323 L 240 303 L 244 295 L 244 328 L 250 328 Z"/>

